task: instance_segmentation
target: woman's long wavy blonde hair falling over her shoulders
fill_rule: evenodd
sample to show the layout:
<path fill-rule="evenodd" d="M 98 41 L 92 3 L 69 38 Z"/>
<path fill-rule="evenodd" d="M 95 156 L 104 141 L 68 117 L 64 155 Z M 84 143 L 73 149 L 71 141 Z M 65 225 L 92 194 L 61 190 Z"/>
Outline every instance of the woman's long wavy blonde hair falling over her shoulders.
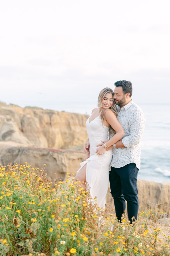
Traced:
<path fill-rule="evenodd" d="M 114 92 L 112 89 L 106 87 L 104 89 L 101 90 L 101 92 L 99 93 L 98 95 L 98 104 L 97 104 L 97 107 L 102 107 L 102 99 L 104 98 L 104 96 L 106 95 L 106 93 L 111 93 L 112 96 L 114 96 Z M 111 109 L 111 111 L 113 111 L 113 113 L 115 114 L 115 116 L 117 117 L 118 116 L 118 112 L 117 112 L 117 108 L 116 108 L 116 104 L 114 102 L 114 99 L 113 99 L 113 104 L 111 105 L 111 107 L 109 108 Z M 106 118 L 105 118 L 105 110 L 106 109 L 103 109 L 100 113 L 100 118 L 101 118 L 101 122 L 102 124 L 106 121 Z M 111 134 L 115 134 L 115 130 L 110 126 L 110 132 Z"/>

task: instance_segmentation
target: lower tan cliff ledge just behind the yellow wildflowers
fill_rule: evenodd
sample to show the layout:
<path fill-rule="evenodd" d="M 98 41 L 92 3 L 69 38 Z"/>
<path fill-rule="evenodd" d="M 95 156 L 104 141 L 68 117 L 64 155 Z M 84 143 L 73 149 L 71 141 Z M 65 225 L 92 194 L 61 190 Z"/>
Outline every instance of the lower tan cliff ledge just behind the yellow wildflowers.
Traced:
<path fill-rule="evenodd" d="M 0 156 L 1 165 L 8 163 L 19 163 L 31 165 L 34 168 L 44 168 L 46 164 L 47 177 L 50 180 L 61 178 L 64 180 L 66 174 L 73 173 L 74 176 L 80 168 L 80 163 L 84 161 L 85 153 L 82 151 L 65 149 L 42 149 L 32 147 L 11 147 L 3 150 Z M 54 175 L 54 173 L 56 173 Z"/>

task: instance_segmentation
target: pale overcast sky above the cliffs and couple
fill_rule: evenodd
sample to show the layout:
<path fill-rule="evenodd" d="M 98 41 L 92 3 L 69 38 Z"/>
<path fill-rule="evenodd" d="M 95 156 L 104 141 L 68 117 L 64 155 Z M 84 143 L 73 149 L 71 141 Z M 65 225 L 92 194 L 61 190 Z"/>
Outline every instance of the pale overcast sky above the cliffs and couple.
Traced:
<path fill-rule="evenodd" d="M 170 103 L 169 1 L 9 0 L 0 4 L 0 101 L 84 112 L 104 87 Z"/>

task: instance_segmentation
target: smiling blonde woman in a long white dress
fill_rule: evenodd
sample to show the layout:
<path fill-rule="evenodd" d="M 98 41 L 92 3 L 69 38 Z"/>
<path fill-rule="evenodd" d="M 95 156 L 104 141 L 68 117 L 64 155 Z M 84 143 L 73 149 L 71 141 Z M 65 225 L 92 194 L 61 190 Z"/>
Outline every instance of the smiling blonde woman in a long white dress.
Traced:
<path fill-rule="evenodd" d="M 116 143 L 124 136 L 124 130 L 117 120 L 117 109 L 113 100 L 114 92 L 106 87 L 99 93 L 98 108 L 92 110 L 91 116 L 85 125 L 88 140 L 85 146 L 86 160 L 81 163 L 81 168 L 75 179 L 86 182 L 92 198 L 97 198 L 98 207 L 103 209 L 106 202 L 106 193 L 109 184 L 109 166 L 112 160 L 112 150 L 106 148 Z M 114 135 L 107 143 L 97 147 L 102 140 L 108 140 L 108 132 Z M 82 184 L 85 188 L 85 185 Z"/>

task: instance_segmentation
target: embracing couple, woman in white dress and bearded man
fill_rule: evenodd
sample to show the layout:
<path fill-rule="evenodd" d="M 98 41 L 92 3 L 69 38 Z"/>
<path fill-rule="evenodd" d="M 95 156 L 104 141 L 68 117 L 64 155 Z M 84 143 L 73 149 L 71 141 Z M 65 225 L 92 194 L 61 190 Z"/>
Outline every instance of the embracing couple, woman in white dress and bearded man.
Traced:
<path fill-rule="evenodd" d="M 110 182 L 117 219 L 121 222 L 126 200 L 132 223 L 137 219 L 139 208 L 137 174 L 146 121 L 141 108 L 131 99 L 132 83 L 122 80 L 114 85 L 114 92 L 110 88 L 101 90 L 98 108 L 92 110 L 86 121 L 86 160 L 81 163 L 75 178 L 86 182 L 100 209 L 105 207 Z"/>

